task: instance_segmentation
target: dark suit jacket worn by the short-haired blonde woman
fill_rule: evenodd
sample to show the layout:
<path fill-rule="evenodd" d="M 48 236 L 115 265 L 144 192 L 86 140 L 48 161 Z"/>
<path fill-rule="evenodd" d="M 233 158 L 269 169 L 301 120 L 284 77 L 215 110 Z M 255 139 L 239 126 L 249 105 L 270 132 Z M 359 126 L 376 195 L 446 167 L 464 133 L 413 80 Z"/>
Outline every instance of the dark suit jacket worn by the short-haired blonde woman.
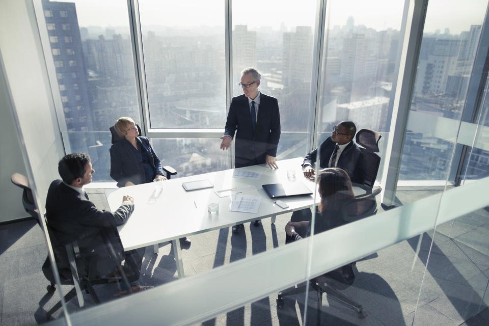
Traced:
<path fill-rule="evenodd" d="M 154 169 L 154 176 L 164 175 L 158 155 L 151 147 L 146 137 L 137 137 L 141 150 L 146 151 Z M 145 177 L 144 168 L 138 164 L 131 149 L 132 145 L 125 138 L 111 147 L 111 177 L 117 181 L 118 187 L 123 187 L 127 181 L 134 184 L 148 182 Z M 152 180 L 151 180 L 152 181 Z"/>

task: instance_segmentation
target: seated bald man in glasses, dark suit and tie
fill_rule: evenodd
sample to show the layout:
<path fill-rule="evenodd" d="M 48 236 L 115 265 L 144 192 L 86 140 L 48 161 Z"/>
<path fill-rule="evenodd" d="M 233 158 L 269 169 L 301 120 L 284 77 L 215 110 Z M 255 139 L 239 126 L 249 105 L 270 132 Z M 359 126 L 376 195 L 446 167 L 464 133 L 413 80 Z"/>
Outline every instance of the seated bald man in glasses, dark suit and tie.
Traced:
<path fill-rule="evenodd" d="M 352 183 L 363 184 L 362 151 L 352 142 L 356 133 L 357 127 L 351 121 L 342 121 L 334 126 L 331 137 L 319 146 L 319 167 L 341 168 L 348 173 Z M 317 160 L 317 151 L 316 148 L 304 158 L 302 167 L 308 178 L 314 178 L 313 165 Z"/>

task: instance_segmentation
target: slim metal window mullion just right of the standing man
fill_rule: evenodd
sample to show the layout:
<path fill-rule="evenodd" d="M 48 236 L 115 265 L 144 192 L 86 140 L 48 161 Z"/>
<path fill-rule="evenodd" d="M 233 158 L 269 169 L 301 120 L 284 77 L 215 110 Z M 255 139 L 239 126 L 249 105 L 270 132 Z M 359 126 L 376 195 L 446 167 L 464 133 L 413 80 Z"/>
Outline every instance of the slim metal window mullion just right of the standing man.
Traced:
<path fill-rule="evenodd" d="M 322 61 L 323 61 L 323 49 L 324 49 L 324 32 L 326 30 L 326 0 L 319 0 L 317 4 L 317 15 L 316 15 L 316 25 L 315 31 L 317 33 L 316 38 L 314 40 L 314 49 L 313 49 L 313 74 L 311 76 L 311 107 L 313 109 L 313 115 L 311 115 L 311 119 L 309 120 L 309 125 L 311 126 L 311 136 L 309 143 L 309 151 L 312 151 L 316 148 L 317 143 L 317 133 L 319 132 L 319 115 L 321 113 L 320 105 L 321 105 L 321 96 L 320 96 L 320 88 L 322 85 Z"/>

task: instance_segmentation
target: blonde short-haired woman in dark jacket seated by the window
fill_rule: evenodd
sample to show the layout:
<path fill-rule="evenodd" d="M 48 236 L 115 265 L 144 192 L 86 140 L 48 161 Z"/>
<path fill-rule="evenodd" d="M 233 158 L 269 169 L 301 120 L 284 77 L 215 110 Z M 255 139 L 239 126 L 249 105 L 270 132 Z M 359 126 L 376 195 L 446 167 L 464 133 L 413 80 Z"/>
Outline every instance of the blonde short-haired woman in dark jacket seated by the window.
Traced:
<path fill-rule="evenodd" d="M 158 155 L 146 137 L 139 135 L 138 126 L 128 117 L 117 119 L 114 125 L 123 138 L 111 147 L 111 177 L 118 187 L 166 180 Z"/>

